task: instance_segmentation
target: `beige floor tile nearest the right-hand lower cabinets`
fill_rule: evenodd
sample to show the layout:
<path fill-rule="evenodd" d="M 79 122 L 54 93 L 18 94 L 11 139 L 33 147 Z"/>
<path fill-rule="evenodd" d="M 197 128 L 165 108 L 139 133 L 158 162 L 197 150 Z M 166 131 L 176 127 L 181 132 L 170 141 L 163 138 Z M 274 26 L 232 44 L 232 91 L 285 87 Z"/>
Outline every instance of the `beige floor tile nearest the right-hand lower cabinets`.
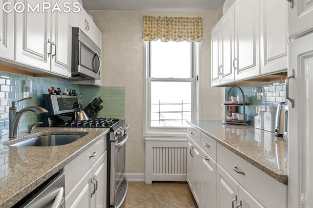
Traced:
<path fill-rule="evenodd" d="M 196 204 L 190 190 L 180 186 L 171 187 L 157 194 L 156 198 L 178 208 L 190 208 L 192 205 Z"/>

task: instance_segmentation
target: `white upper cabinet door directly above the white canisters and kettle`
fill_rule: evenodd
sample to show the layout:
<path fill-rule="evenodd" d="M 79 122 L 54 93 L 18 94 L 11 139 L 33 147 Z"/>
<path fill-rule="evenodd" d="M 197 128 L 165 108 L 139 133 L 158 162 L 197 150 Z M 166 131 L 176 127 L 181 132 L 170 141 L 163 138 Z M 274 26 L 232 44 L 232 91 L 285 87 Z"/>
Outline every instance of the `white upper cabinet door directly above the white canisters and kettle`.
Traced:
<path fill-rule="evenodd" d="M 261 0 L 261 74 L 287 69 L 288 1 Z"/>

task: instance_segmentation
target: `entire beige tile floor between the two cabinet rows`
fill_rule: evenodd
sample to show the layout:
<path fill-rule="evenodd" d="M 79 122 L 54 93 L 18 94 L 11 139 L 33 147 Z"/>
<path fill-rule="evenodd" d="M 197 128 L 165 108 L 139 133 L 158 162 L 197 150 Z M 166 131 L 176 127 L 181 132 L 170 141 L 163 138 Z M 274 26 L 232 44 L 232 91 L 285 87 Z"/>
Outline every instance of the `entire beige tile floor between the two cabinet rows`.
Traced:
<path fill-rule="evenodd" d="M 123 208 L 198 208 L 188 184 L 128 182 Z"/>

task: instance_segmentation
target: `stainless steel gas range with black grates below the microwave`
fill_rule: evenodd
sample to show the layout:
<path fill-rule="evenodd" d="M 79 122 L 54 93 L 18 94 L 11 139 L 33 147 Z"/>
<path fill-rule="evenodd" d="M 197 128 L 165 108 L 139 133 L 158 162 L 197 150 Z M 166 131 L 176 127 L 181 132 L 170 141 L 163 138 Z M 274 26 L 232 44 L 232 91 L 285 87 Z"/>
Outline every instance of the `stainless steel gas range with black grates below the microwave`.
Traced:
<path fill-rule="evenodd" d="M 111 118 L 91 118 L 73 120 L 77 110 L 73 105 L 81 105 L 80 97 L 64 95 L 43 95 L 45 114 L 44 126 L 49 127 L 85 127 L 110 128 L 107 135 L 108 174 L 107 207 L 120 208 L 126 197 L 128 182 L 125 177 L 125 146 L 128 139 L 128 125 L 124 120 Z"/>

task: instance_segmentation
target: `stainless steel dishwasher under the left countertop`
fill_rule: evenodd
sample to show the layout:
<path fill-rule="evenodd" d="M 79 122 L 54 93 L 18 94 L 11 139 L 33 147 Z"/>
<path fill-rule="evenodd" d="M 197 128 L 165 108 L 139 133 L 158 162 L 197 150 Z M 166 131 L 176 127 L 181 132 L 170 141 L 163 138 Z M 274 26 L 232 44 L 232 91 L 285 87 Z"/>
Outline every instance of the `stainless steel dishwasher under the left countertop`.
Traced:
<path fill-rule="evenodd" d="M 65 173 L 61 169 L 13 208 L 65 208 Z"/>

